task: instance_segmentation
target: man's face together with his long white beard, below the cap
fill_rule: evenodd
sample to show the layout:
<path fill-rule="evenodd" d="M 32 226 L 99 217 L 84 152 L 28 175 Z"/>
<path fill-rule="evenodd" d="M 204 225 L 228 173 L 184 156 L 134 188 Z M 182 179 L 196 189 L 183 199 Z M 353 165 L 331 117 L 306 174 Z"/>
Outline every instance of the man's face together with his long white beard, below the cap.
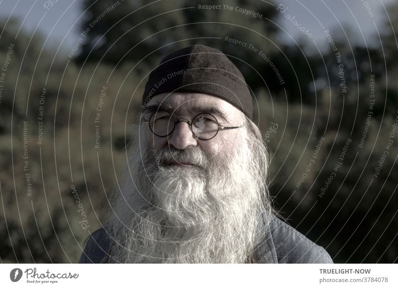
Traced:
<path fill-rule="evenodd" d="M 228 102 L 204 94 L 154 96 L 143 118 L 158 107 L 176 121 L 210 113 L 219 126 L 245 126 L 200 140 L 184 121 L 166 137 L 141 121 L 107 224 L 114 239 L 109 262 L 244 263 L 270 211 L 263 201 L 265 147 L 249 129 L 255 125 Z"/>

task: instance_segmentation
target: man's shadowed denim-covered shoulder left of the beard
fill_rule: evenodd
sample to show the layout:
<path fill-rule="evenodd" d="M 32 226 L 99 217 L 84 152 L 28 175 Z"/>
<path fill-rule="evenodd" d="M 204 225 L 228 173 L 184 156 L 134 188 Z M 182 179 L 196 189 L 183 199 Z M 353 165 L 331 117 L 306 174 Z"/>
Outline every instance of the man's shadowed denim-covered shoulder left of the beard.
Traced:
<path fill-rule="evenodd" d="M 107 256 L 109 239 L 103 228 L 94 231 L 87 239 L 79 263 L 101 263 Z"/>

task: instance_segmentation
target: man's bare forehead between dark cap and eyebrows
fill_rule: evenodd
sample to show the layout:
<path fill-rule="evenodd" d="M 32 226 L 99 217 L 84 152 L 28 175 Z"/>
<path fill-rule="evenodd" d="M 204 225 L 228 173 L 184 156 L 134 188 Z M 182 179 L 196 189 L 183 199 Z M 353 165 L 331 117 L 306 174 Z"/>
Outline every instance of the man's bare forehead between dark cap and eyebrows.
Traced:
<path fill-rule="evenodd" d="M 162 93 L 153 96 L 148 106 L 169 106 L 175 113 L 191 113 L 196 111 L 217 109 L 225 116 L 233 117 L 239 110 L 227 101 L 202 93 Z"/>

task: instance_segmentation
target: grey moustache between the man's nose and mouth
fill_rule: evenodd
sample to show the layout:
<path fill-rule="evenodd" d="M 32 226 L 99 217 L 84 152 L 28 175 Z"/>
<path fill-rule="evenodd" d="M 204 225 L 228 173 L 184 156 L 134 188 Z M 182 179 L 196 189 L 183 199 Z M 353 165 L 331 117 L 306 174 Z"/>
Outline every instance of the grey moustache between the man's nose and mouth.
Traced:
<path fill-rule="evenodd" d="M 209 165 L 206 154 L 199 147 L 180 150 L 169 146 L 159 151 L 159 164 L 167 166 L 173 163 L 195 165 L 202 169 L 207 169 Z"/>

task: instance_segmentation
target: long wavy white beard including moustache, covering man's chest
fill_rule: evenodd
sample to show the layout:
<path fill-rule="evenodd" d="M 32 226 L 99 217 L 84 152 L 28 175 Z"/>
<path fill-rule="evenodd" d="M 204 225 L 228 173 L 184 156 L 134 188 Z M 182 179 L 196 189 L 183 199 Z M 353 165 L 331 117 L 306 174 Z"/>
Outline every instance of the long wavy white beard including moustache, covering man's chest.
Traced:
<path fill-rule="evenodd" d="M 211 161 L 199 147 L 159 153 L 145 147 L 142 159 L 139 147 L 132 147 L 133 177 L 116 193 L 106 225 L 112 237 L 107 261 L 247 262 L 264 237 L 270 209 L 264 171 L 247 139 L 238 142 Z M 198 166 L 164 164 L 171 159 Z"/>

